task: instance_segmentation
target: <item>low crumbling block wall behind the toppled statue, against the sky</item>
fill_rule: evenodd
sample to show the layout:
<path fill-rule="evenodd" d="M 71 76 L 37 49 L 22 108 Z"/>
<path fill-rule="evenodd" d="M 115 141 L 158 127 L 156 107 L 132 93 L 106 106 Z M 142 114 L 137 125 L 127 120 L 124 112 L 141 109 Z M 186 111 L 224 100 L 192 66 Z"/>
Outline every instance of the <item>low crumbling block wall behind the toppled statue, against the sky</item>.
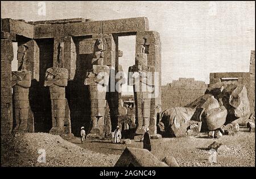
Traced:
<path fill-rule="evenodd" d="M 203 96 L 208 84 L 194 78 L 179 78 L 162 86 L 162 111 L 168 108 L 185 106 Z"/>

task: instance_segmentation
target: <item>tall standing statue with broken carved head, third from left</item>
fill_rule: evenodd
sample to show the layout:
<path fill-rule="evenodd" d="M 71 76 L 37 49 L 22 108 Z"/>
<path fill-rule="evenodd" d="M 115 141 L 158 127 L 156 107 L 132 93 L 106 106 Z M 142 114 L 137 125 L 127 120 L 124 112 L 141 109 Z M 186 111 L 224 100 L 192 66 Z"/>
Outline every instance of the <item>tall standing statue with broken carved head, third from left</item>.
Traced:
<path fill-rule="evenodd" d="M 86 74 L 84 83 L 89 86 L 91 102 L 91 127 L 86 138 L 104 138 L 106 91 L 109 83 L 109 66 L 112 65 L 112 58 L 109 54 L 110 51 L 106 51 L 106 36 L 94 35 L 93 37 L 94 40 L 91 40 L 94 43 L 92 70 Z"/>

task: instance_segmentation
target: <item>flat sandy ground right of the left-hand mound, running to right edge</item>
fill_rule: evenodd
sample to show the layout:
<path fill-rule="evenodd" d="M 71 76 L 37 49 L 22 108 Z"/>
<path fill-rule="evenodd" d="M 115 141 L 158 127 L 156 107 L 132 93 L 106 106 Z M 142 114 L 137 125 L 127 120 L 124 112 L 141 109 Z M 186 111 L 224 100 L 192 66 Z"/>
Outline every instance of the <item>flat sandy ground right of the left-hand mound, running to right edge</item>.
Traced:
<path fill-rule="evenodd" d="M 214 141 L 226 146 L 217 152 L 217 163 L 210 163 L 209 144 Z M 81 144 L 79 138 L 72 140 L 78 146 L 101 154 L 121 155 L 125 147 L 143 148 L 142 142 L 132 140 L 131 144 L 114 144 L 110 140 L 86 140 Z M 180 167 L 255 167 L 255 133 L 241 128 L 236 135 L 224 135 L 209 139 L 205 133 L 198 137 L 151 139 L 152 154 L 162 160 L 165 156 L 175 157 Z"/>

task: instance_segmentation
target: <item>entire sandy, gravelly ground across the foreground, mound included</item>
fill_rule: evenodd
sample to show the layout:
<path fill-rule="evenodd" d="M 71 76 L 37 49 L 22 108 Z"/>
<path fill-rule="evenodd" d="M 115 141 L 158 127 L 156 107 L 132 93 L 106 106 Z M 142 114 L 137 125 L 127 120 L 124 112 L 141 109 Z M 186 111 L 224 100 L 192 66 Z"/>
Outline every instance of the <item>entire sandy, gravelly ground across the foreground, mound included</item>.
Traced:
<path fill-rule="evenodd" d="M 217 152 L 217 163 L 210 163 L 209 144 L 223 143 L 225 150 Z M 72 142 L 72 143 L 71 143 Z M 198 137 L 151 139 L 152 154 L 162 160 L 175 157 L 181 167 L 255 167 L 255 133 L 247 128 L 236 135 L 209 139 L 207 134 Z M 112 167 L 125 147 L 143 148 L 142 142 L 114 144 L 110 140 L 64 140 L 47 133 L 25 133 L 1 138 L 1 165 L 28 167 Z M 46 151 L 46 163 L 39 163 L 40 149 Z"/>

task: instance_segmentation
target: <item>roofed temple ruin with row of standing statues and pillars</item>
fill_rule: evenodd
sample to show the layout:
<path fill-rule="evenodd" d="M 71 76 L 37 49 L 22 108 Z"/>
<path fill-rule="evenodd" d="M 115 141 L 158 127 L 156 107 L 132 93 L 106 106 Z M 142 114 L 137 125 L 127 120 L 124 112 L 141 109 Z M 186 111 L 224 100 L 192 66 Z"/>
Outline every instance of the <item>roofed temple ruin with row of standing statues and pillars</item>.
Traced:
<path fill-rule="evenodd" d="M 136 36 L 136 59 L 129 68 L 134 114 L 121 100 L 125 80 L 118 64 L 118 37 L 130 35 Z M 11 70 L 13 42 L 18 42 L 18 71 Z M 147 18 L 1 19 L 1 134 L 79 135 L 85 126 L 88 138 L 106 138 L 117 125 L 136 134 L 149 127 L 156 134 L 160 87 L 161 42 Z"/>

